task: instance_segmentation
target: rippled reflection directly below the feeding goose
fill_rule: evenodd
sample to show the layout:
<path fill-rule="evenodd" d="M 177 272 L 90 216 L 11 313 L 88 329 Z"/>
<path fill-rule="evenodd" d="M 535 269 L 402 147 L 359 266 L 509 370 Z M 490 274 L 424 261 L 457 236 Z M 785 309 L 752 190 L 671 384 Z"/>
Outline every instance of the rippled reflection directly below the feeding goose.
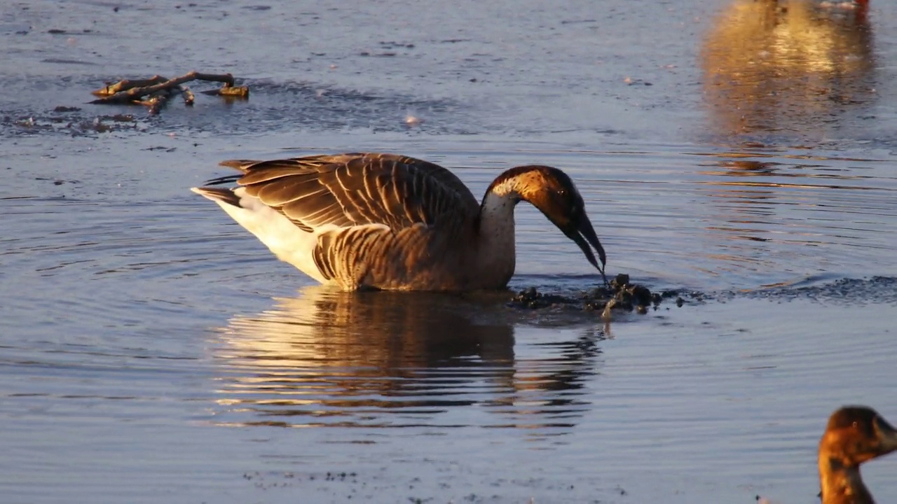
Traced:
<path fill-rule="evenodd" d="M 600 335 L 558 340 L 527 327 L 546 341 L 524 346 L 532 357 L 520 357 L 520 314 L 504 307 L 507 298 L 313 286 L 255 317 L 233 317 L 216 344 L 224 408 L 216 419 L 570 430 L 588 409 L 582 388 L 597 372 Z M 452 414 L 471 405 L 484 407 Z"/>

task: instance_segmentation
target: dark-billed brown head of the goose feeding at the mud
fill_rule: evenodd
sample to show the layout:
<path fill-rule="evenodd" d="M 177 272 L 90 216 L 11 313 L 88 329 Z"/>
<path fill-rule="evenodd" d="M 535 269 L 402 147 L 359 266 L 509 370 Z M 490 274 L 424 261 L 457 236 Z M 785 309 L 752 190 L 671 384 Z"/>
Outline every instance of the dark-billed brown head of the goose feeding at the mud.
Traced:
<path fill-rule="evenodd" d="M 520 200 L 538 208 L 567 238 L 572 239 L 607 282 L 605 248 L 601 246 L 595 228 L 588 220 L 586 204 L 583 203 L 582 196 L 579 196 L 579 190 L 566 173 L 550 166 L 518 166 L 497 178 L 490 190 L 501 192 L 500 187 L 506 183 L 510 183 L 509 186 L 513 187 L 513 192 Z M 592 248 L 595 248 L 601 265 L 598 265 Z"/>

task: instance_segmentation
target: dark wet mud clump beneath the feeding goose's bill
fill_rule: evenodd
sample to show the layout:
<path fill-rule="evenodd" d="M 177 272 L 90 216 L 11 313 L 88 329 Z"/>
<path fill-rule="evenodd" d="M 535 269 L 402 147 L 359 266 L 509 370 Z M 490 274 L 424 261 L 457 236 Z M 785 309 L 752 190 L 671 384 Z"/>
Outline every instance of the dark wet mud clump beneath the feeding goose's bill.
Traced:
<path fill-rule="evenodd" d="M 579 308 L 584 311 L 623 310 L 644 314 L 649 308 L 657 309 L 663 300 L 675 298 L 677 306 L 684 300 L 678 291 L 652 292 L 639 283 L 631 283 L 628 274 L 618 274 L 610 285 L 601 286 L 579 296 L 544 294 L 529 287 L 519 291 L 508 303 L 510 308 Z"/>

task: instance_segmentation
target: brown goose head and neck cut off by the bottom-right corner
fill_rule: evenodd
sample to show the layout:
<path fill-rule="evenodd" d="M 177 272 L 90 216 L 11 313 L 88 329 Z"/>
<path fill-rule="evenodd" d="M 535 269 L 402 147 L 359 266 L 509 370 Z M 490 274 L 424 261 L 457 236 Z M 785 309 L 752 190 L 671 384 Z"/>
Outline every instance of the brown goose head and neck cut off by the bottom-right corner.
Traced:
<path fill-rule="evenodd" d="M 832 413 L 819 441 L 823 504 L 874 504 L 859 465 L 897 450 L 897 430 L 872 408 L 844 406 Z"/>

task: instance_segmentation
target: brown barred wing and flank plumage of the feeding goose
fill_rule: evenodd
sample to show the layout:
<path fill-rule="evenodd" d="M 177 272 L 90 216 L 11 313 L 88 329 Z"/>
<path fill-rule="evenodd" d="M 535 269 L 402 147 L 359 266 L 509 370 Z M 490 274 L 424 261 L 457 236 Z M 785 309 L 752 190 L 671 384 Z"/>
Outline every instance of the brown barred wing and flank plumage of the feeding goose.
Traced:
<path fill-rule="evenodd" d="M 325 278 L 350 289 L 401 286 L 427 267 L 444 271 L 440 251 L 464 241 L 462 224 L 479 213 L 457 176 L 407 156 L 350 153 L 222 165 L 242 171 L 237 183 L 248 196 L 300 229 L 334 226 L 319 235 L 313 259 Z"/>

